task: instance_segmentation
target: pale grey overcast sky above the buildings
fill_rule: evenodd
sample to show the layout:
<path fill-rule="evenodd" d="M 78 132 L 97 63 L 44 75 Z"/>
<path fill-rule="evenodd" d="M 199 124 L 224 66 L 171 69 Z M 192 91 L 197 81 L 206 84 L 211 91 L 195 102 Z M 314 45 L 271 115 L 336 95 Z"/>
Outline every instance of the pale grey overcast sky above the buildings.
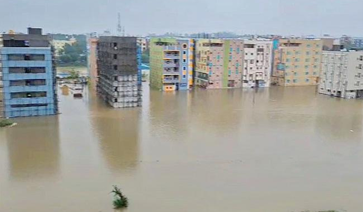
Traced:
<path fill-rule="evenodd" d="M 363 0 L 0 0 L 0 31 L 126 34 L 232 31 L 363 37 Z"/>

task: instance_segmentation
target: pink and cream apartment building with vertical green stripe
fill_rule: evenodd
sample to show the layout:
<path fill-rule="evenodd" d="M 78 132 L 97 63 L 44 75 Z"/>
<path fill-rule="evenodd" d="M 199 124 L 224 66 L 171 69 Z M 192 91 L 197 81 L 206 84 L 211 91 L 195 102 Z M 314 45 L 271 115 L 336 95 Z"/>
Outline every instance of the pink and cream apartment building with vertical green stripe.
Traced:
<path fill-rule="evenodd" d="M 240 88 L 243 40 L 200 39 L 195 47 L 195 85 L 203 88 Z"/>

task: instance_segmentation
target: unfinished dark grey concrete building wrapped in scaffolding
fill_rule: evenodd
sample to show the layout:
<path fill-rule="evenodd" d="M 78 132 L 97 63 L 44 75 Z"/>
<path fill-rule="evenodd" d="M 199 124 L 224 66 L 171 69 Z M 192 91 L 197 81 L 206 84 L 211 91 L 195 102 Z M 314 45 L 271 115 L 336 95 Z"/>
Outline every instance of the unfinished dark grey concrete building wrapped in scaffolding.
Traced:
<path fill-rule="evenodd" d="M 99 96 L 114 108 L 141 106 L 136 37 L 101 36 L 97 48 Z"/>

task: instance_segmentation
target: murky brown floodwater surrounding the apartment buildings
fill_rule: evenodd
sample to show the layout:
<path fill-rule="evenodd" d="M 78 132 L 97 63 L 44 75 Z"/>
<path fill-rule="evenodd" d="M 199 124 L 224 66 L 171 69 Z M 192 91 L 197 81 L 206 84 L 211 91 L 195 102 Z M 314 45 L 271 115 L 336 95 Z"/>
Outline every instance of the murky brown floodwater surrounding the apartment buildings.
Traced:
<path fill-rule="evenodd" d="M 0 129 L 1 212 L 363 211 L 363 100 L 315 87 L 149 91 Z M 254 99 L 254 102 L 253 102 Z M 352 132 L 351 132 L 352 130 Z"/>

